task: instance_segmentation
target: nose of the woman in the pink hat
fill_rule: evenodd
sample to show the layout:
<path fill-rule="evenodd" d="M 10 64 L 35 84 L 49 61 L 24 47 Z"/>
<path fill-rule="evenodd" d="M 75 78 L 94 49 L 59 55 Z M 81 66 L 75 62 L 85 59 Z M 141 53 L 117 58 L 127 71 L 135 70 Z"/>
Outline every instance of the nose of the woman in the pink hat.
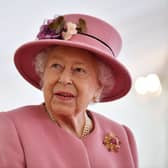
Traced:
<path fill-rule="evenodd" d="M 71 76 L 71 72 L 64 70 L 58 79 L 58 82 L 63 84 L 63 85 L 68 85 L 68 84 L 72 84 L 72 76 Z"/>

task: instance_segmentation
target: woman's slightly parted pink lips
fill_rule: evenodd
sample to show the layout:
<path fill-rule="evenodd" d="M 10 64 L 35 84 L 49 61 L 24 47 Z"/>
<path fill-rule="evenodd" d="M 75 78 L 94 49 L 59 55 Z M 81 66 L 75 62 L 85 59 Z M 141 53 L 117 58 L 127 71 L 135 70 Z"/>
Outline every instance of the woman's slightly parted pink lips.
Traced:
<path fill-rule="evenodd" d="M 64 91 L 55 92 L 54 95 L 59 100 L 64 100 L 64 101 L 70 101 L 70 100 L 72 100 L 75 97 L 72 93 L 70 93 L 70 92 L 64 92 Z"/>

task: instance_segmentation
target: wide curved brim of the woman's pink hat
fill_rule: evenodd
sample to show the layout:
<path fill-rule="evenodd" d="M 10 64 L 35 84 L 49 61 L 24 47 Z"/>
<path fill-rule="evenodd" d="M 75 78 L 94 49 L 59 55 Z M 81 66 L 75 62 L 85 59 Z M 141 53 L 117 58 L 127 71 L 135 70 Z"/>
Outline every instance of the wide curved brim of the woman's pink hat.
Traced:
<path fill-rule="evenodd" d="M 93 44 L 95 44 L 95 42 L 93 42 Z M 86 42 L 86 40 L 83 42 L 83 37 L 81 41 L 79 38 L 77 40 L 72 39 L 70 41 L 57 39 L 36 40 L 28 42 L 18 48 L 15 52 L 14 62 L 16 68 L 24 79 L 36 88 L 41 89 L 40 77 L 37 75 L 34 65 L 34 58 L 40 51 L 53 45 L 86 49 L 95 53 L 95 56 L 101 59 L 106 65 L 109 65 L 114 74 L 115 84 L 113 86 L 112 83 L 112 90 L 108 93 L 106 92 L 106 95 L 102 96 L 100 102 L 113 101 L 123 97 L 131 88 L 131 77 L 128 70 L 114 56 L 112 56 L 112 53 L 110 53 L 109 49 L 105 48 L 104 45 L 98 44 L 99 46 L 95 46 L 93 44 L 90 39 L 88 42 Z M 102 92 L 102 94 L 104 93 Z"/>

